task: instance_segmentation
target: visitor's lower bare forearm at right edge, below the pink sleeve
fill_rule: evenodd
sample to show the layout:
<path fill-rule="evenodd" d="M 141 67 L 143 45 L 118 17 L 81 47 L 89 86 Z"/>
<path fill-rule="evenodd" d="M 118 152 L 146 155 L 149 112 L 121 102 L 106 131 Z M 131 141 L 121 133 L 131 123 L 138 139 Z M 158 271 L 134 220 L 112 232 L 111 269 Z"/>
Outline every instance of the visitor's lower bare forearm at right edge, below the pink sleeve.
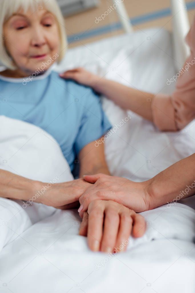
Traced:
<path fill-rule="evenodd" d="M 149 180 L 150 209 L 195 194 L 195 154 L 183 159 Z"/>

